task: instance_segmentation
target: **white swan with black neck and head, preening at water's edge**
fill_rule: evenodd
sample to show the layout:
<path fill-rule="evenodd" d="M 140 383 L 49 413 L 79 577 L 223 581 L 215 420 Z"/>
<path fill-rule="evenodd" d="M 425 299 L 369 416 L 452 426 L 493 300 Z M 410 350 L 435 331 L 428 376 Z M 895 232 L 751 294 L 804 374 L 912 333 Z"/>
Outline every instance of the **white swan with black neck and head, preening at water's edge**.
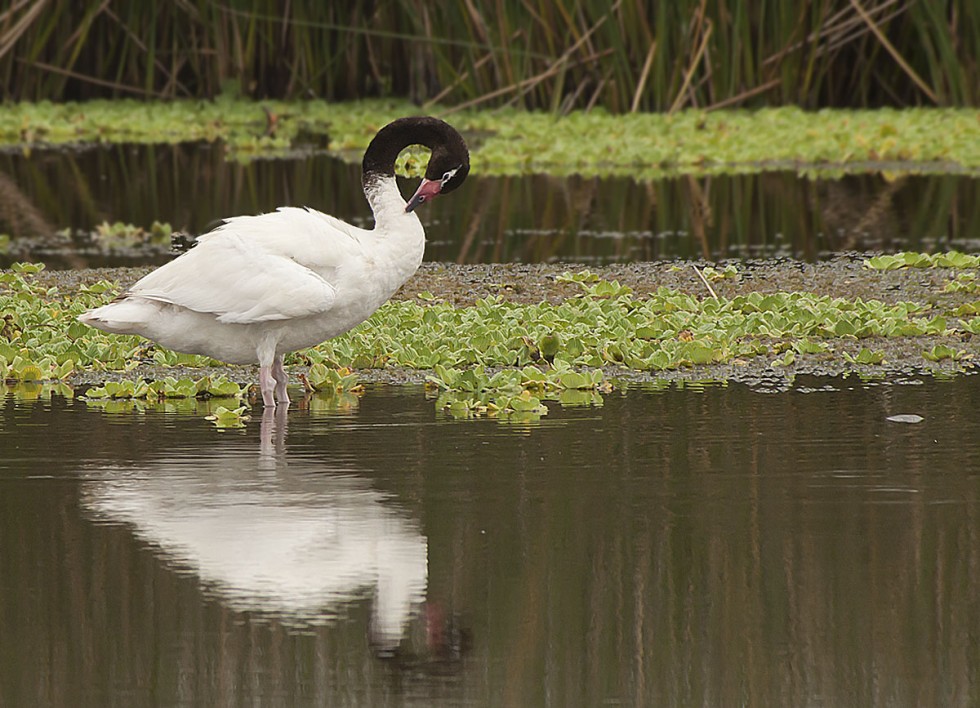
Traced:
<path fill-rule="evenodd" d="M 431 155 L 406 203 L 395 159 L 409 145 L 424 145 Z M 400 118 L 378 131 L 364 153 L 372 230 L 296 207 L 233 217 L 78 319 L 179 352 L 258 363 L 262 402 L 288 403 L 283 356 L 343 334 L 394 295 L 422 262 L 425 232 L 415 208 L 459 187 L 468 172 L 466 143 L 449 124 Z"/>

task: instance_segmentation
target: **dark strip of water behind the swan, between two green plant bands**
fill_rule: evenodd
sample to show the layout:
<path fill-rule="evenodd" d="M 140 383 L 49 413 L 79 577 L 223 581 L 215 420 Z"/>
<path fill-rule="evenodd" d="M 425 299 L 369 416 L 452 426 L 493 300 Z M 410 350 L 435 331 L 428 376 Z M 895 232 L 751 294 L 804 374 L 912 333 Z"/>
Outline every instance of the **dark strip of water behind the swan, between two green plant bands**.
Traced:
<path fill-rule="evenodd" d="M 403 181 L 403 191 L 413 188 Z M 227 162 L 221 145 L 113 145 L 0 154 L 0 265 L 135 265 L 166 246 L 106 253 L 98 224 L 167 222 L 202 233 L 236 214 L 310 206 L 370 226 L 357 164 L 325 154 Z M 426 260 L 459 263 L 613 263 L 670 258 L 792 256 L 842 250 L 980 249 L 980 179 L 964 175 L 796 172 L 623 178 L 471 177 L 422 213 Z M 36 239 L 69 228 L 71 240 Z"/>

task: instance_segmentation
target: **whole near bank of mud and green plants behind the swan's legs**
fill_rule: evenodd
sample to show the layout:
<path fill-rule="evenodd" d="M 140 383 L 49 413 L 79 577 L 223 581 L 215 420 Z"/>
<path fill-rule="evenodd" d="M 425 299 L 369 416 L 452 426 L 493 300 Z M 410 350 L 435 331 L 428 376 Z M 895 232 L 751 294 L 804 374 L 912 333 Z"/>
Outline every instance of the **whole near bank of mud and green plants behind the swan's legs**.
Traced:
<path fill-rule="evenodd" d="M 142 270 L 0 272 L 7 385 L 28 397 L 77 387 L 120 410 L 230 396 L 239 415 L 216 420 L 236 427 L 254 367 L 75 322 Z M 948 377 L 980 361 L 978 275 L 980 257 L 955 252 L 592 271 L 424 264 L 371 320 L 287 364 L 294 384 L 339 397 L 322 405 L 356 405 L 364 383 L 426 383 L 451 415 L 518 420 L 634 385 Z"/>

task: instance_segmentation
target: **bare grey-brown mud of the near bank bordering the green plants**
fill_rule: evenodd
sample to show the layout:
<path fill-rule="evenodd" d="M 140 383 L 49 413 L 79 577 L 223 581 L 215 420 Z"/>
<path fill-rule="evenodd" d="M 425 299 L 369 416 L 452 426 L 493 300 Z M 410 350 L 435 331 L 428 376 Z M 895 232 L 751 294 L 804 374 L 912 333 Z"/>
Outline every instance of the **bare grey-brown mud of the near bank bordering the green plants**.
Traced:
<path fill-rule="evenodd" d="M 634 295 L 660 287 L 676 289 L 697 297 L 710 297 L 708 287 L 699 278 L 695 266 L 711 265 L 722 271 L 729 263 L 737 269 L 735 277 L 710 281 L 711 288 L 719 297 L 734 297 L 748 292 L 811 292 L 817 295 L 841 297 L 849 300 L 880 300 L 885 303 L 914 301 L 932 304 L 937 314 L 978 300 L 977 293 L 965 291 L 945 293 L 944 287 L 963 270 L 943 268 L 902 269 L 875 271 L 863 267 L 869 254 L 844 254 L 818 263 L 806 263 L 791 259 L 731 261 L 722 263 L 667 261 L 590 267 L 589 270 L 604 280 L 617 280 L 632 288 Z M 500 296 L 505 301 L 536 303 L 560 302 L 582 292 L 577 283 L 557 280 L 566 271 L 578 272 L 585 266 L 560 264 L 495 264 L 455 265 L 425 263 L 418 273 L 395 295 L 396 299 L 415 299 L 420 294 L 457 306 L 471 305 L 481 298 Z M 38 278 L 47 285 L 59 285 L 71 290 L 83 284 L 109 279 L 121 286 L 134 282 L 149 268 L 115 268 L 80 271 L 45 271 Z M 975 269 L 972 271 L 975 272 Z M 945 344 L 965 353 L 959 361 L 930 362 L 922 356 L 924 350 L 936 344 Z M 856 356 L 864 347 L 884 352 L 881 364 L 861 365 L 848 362 L 844 353 Z M 903 380 L 926 374 L 971 373 L 980 361 L 980 337 L 969 334 L 934 337 L 873 337 L 861 340 L 834 339 L 833 353 L 799 355 L 796 361 L 783 366 L 776 364 L 774 356 L 757 356 L 713 366 L 697 366 L 665 372 L 635 372 L 610 368 L 608 375 L 624 382 L 652 380 L 714 380 L 738 381 L 767 390 L 789 387 L 800 375 L 832 375 L 856 373 L 863 377 Z M 294 368 L 292 373 L 301 371 Z M 201 376 L 202 370 L 183 372 L 184 375 Z M 210 373 L 224 373 L 239 381 L 255 381 L 254 367 L 228 367 Z M 426 372 L 400 368 L 362 370 L 358 372 L 366 382 L 409 383 L 422 382 Z M 133 375 L 157 378 L 180 376 L 182 372 L 157 366 L 136 369 L 121 377 Z M 116 378 L 114 375 L 82 373 L 73 380 L 92 383 Z"/>

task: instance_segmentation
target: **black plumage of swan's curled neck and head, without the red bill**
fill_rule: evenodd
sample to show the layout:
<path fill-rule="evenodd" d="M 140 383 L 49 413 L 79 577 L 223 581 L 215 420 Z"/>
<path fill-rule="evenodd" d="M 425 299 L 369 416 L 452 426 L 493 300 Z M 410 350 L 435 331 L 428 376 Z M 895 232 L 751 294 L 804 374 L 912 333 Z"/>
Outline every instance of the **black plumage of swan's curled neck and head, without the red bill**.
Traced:
<path fill-rule="evenodd" d="M 427 179 L 438 180 L 448 170 L 463 168 L 450 189 L 458 186 L 469 171 L 466 143 L 451 125 L 438 118 L 413 116 L 389 123 L 374 136 L 361 163 L 364 186 L 379 177 L 394 177 L 395 159 L 409 145 L 424 145 L 432 151 L 425 172 Z M 443 188 L 443 192 L 447 191 L 450 190 Z"/>

